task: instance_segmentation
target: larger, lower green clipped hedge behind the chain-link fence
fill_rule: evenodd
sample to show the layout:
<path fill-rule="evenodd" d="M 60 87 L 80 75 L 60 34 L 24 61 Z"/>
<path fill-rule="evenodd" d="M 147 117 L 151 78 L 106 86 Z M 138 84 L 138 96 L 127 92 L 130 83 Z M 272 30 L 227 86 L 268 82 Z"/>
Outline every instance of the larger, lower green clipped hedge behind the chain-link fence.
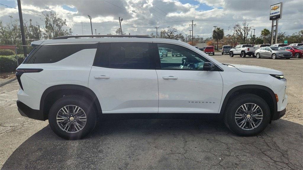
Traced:
<path fill-rule="evenodd" d="M 18 62 L 21 64 L 24 60 L 24 55 L 19 54 L 18 56 Z M 16 55 L 9 55 L 9 56 L 0 56 L 0 72 L 13 72 L 18 67 L 17 65 L 17 58 Z"/>

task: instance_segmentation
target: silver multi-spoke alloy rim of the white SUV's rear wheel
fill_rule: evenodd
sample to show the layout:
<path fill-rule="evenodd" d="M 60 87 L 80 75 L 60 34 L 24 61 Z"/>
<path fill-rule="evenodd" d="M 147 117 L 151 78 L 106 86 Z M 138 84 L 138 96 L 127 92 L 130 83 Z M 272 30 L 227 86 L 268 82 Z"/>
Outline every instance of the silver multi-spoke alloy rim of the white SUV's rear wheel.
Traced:
<path fill-rule="evenodd" d="M 75 105 L 62 107 L 57 113 L 57 124 L 59 128 L 68 133 L 77 133 L 86 125 L 86 114 Z"/>

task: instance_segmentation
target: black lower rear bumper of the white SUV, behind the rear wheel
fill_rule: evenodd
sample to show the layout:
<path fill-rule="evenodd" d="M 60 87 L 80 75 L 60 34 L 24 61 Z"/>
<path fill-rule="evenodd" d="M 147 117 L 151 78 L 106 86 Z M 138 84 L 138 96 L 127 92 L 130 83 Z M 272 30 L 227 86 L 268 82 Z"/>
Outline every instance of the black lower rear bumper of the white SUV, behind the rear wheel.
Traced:
<path fill-rule="evenodd" d="M 18 106 L 18 111 L 21 114 L 21 116 L 25 116 L 25 117 L 28 117 L 31 119 L 37 119 L 37 120 L 46 120 L 47 119 L 47 116 L 43 114 L 42 110 L 32 109 L 19 100 L 17 100 L 17 106 Z"/>

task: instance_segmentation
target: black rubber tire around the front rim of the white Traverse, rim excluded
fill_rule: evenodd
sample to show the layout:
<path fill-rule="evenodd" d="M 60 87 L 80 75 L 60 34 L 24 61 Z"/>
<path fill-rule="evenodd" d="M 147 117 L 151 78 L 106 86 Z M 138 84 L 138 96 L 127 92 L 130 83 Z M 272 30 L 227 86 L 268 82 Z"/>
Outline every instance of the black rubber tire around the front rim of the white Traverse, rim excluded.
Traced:
<path fill-rule="evenodd" d="M 246 103 L 257 104 L 263 112 L 263 119 L 261 123 L 259 126 L 251 130 L 241 129 L 235 121 L 236 111 L 240 106 Z M 224 114 L 224 123 L 228 129 L 239 136 L 254 136 L 262 132 L 267 127 L 270 116 L 270 109 L 265 100 L 255 94 L 246 93 L 235 96 L 231 101 L 228 102 Z"/>

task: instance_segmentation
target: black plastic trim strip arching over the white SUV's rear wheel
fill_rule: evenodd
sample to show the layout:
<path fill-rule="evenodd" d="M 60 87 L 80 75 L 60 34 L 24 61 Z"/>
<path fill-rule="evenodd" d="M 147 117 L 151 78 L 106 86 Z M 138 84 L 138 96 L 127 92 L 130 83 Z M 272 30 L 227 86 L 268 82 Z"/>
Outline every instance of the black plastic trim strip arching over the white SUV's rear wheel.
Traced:
<path fill-rule="evenodd" d="M 55 90 L 79 90 L 79 91 L 83 91 L 84 93 L 87 93 L 88 95 L 91 96 L 91 98 L 95 102 L 98 113 L 102 113 L 101 105 L 100 105 L 100 102 L 99 102 L 98 97 L 96 96 L 96 94 L 91 89 L 89 89 L 88 87 L 81 86 L 81 85 L 74 85 L 74 84 L 61 84 L 61 85 L 55 85 L 55 86 L 52 86 L 52 87 L 48 87 L 43 92 L 43 94 L 41 96 L 40 110 L 44 110 L 44 102 L 45 102 L 46 96 L 48 94 L 50 94 L 51 92 L 55 91 Z"/>

